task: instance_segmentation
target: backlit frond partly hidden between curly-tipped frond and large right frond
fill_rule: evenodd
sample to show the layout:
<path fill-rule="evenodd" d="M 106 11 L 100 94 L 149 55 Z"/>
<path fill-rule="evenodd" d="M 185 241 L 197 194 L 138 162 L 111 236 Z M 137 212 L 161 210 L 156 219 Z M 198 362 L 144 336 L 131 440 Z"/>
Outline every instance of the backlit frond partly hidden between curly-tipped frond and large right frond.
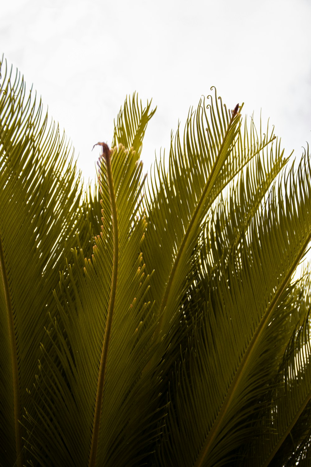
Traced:
<path fill-rule="evenodd" d="M 241 239 L 242 231 L 261 208 L 270 185 L 289 160 L 290 156 L 285 158 L 283 154 L 280 142 L 271 142 L 250 161 L 229 191 L 216 200 L 200 241 L 202 271 L 214 268 L 233 242 Z"/>

